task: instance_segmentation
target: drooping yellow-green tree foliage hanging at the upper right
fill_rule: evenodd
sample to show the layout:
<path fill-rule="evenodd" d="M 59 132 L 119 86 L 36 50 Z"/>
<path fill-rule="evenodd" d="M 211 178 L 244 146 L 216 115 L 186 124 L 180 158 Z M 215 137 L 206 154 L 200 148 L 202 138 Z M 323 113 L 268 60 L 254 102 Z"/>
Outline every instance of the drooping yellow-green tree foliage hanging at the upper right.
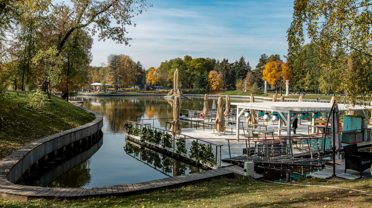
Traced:
<path fill-rule="evenodd" d="M 321 73 L 323 89 L 333 77 L 337 94 L 346 93 L 355 100 L 357 95 L 370 93 L 371 16 L 369 0 L 295 0 L 293 21 L 287 31 L 288 55 L 299 51 L 307 34 L 317 46 L 322 70 L 329 71 Z M 345 81 L 345 77 L 353 81 Z"/>

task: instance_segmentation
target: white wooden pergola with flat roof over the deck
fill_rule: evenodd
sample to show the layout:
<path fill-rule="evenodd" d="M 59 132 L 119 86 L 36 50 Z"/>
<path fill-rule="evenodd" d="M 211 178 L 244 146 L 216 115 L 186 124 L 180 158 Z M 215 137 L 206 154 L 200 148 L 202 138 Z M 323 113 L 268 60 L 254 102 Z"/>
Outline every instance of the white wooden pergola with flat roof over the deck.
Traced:
<path fill-rule="evenodd" d="M 291 124 L 299 113 L 318 113 L 318 112 L 330 112 L 332 103 L 317 103 L 317 102 L 263 102 L 263 103 L 231 103 L 231 105 L 237 106 L 237 124 L 240 122 L 240 116 L 246 109 L 262 110 L 262 111 L 275 111 L 280 114 L 283 121 L 287 124 L 287 136 L 291 135 Z M 366 120 L 368 117 L 366 114 L 367 109 L 371 109 L 371 105 L 350 105 L 350 104 L 337 104 L 339 111 L 358 111 L 360 115 Z M 285 116 L 287 113 L 287 116 Z M 294 116 L 292 117 L 292 114 Z M 289 122 L 288 122 L 289 121 Z M 313 119 L 314 125 L 315 119 Z M 280 122 L 278 122 L 280 129 Z M 367 129 L 367 123 L 365 122 L 365 130 Z M 237 125 L 236 138 L 239 139 L 239 128 Z"/>

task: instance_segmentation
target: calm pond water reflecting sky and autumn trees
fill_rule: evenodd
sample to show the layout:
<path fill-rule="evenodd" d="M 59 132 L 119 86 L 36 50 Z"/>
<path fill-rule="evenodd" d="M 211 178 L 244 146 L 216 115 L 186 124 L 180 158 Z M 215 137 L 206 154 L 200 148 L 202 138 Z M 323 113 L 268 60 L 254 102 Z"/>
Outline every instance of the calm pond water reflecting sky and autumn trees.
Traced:
<path fill-rule="evenodd" d="M 126 120 L 171 118 L 173 117 L 171 100 L 165 100 L 163 97 L 87 96 L 78 96 L 71 100 L 84 101 L 84 107 L 103 115 L 103 142 L 92 157 L 81 161 L 76 167 L 57 178 L 49 184 L 50 187 L 134 184 L 203 170 L 201 167 L 195 167 L 185 161 L 173 160 L 125 140 Z M 203 98 L 181 99 L 180 105 L 185 109 L 201 110 L 203 101 Z M 249 100 L 231 99 L 231 102 L 249 102 Z M 213 99 L 210 98 L 210 107 L 212 103 Z M 169 120 L 157 120 L 154 126 L 164 128 L 166 121 Z M 148 123 L 153 126 L 152 121 Z M 74 180 L 71 180 L 72 178 Z"/>

